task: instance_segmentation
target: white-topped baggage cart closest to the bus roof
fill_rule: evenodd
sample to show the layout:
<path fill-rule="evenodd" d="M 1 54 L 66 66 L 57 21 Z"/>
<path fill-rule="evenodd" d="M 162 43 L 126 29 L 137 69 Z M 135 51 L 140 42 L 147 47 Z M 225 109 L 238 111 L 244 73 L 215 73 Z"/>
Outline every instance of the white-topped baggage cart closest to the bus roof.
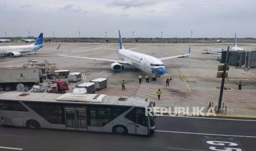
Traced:
<path fill-rule="evenodd" d="M 95 92 L 95 83 L 86 82 L 83 84 L 75 85 L 73 89 L 74 93 L 86 93 L 86 94 L 94 94 Z"/>

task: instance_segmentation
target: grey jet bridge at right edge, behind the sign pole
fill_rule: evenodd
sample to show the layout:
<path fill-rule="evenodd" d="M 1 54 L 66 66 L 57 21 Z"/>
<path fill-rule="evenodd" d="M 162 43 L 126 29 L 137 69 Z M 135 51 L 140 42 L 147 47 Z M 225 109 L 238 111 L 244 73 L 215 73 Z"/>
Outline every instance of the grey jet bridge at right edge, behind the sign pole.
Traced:
<path fill-rule="evenodd" d="M 222 51 L 220 63 L 225 62 L 227 51 Z M 228 65 L 243 68 L 248 71 L 256 67 L 256 50 L 252 51 L 229 51 Z"/>

